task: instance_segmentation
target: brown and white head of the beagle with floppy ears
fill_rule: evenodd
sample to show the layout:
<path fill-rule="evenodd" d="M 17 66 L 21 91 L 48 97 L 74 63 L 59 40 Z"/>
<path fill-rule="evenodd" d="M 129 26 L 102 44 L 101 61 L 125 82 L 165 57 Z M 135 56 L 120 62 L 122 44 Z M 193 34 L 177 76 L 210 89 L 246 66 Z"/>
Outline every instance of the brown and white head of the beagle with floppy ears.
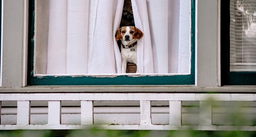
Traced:
<path fill-rule="evenodd" d="M 136 39 L 142 38 L 143 33 L 138 28 L 133 26 L 124 26 L 117 30 L 116 40 L 121 40 L 122 42 L 131 42 Z"/>

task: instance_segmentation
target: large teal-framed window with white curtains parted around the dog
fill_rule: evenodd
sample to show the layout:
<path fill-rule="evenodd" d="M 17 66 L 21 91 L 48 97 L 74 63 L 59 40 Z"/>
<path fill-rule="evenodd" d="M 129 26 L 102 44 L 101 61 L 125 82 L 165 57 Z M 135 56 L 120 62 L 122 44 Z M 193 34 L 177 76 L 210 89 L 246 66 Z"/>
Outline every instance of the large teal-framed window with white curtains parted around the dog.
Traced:
<path fill-rule="evenodd" d="M 104 33 L 102 32 L 104 29 L 101 25 L 98 25 L 102 23 L 101 19 L 97 20 L 95 19 L 96 16 L 92 15 L 94 14 L 93 11 L 101 9 L 100 7 L 105 5 L 104 3 L 101 3 L 99 0 L 98 3 L 89 4 L 88 1 L 81 0 L 82 4 L 65 2 L 67 5 L 60 6 L 58 2 L 62 1 L 30 0 L 30 19 L 32 20 L 30 24 L 30 45 L 28 52 L 28 58 L 30 59 L 28 62 L 28 85 L 194 84 L 194 35 L 190 35 L 194 33 L 194 0 L 190 4 L 187 1 L 180 0 L 176 3 L 178 4 L 178 9 L 168 8 L 170 5 L 173 6 L 175 2 L 163 0 L 162 2 L 166 2 L 167 4 L 160 4 L 160 6 L 165 7 L 161 7 L 161 10 L 155 9 L 158 7 L 157 4 L 159 2 L 154 3 L 153 0 L 145 0 L 146 8 L 148 8 L 147 12 L 137 11 L 139 8 L 133 9 L 135 26 L 140 27 L 144 32 L 144 40 L 141 42 L 143 43 L 142 47 L 144 46 L 144 49 L 142 48 L 141 51 L 138 51 L 142 52 L 143 55 L 139 58 L 138 53 L 138 60 L 140 59 L 141 63 L 137 65 L 142 70 L 142 73 L 133 75 L 119 73 L 120 62 L 118 60 L 120 58 L 118 57 L 120 56 L 120 51 L 117 49 L 117 46 L 112 47 L 116 43 L 113 40 L 113 33 L 116 31 L 115 29 L 119 28 L 119 24 L 116 23 L 117 19 L 114 17 L 107 23 L 112 24 L 114 29 L 110 27 L 105 32 L 108 34 L 109 38 L 107 40 L 110 40 L 109 45 L 111 47 L 105 47 L 104 49 L 103 43 L 106 43 L 106 40 L 102 40 L 100 37 L 101 33 Z M 135 0 L 132 0 L 133 2 Z M 115 1 L 111 1 L 110 3 L 110 7 L 123 6 Z M 76 7 L 82 5 L 87 8 Z M 91 5 L 96 6 L 93 7 Z M 133 3 L 133 7 L 140 7 L 142 5 L 144 4 L 141 1 L 137 2 L 137 4 Z M 73 11 L 77 10 L 73 10 L 72 8 L 85 11 L 75 13 Z M 104 14 L 102 13 L 102 15 L 104 17 L 105 14 L 106 16 L 109 16 L 108 14 L 111 16 L 116 15 L 119 12 L 118 10 L 120 11 L 120 8 L 112 9 L 110 13 L 103 12 Z M 154 10 L 159 12 L 155 12 Z M 35 14 L 33 14 L 34 11 Z M 175 13 L 175 11 L 178 13 Z M 101 12 L 97 11 L 95 15 Z M 169 12 L 172 14 L 169 14 Z M 81 15 L 81 13 L 85 15 Z M 58 14 L 63 16 L 59 16 Z M 141 19 L 136 23 L 139 14 L 147 14 L 148 16 L 145 20 Z M 166 18 L 158 18 L 160 14 L 168 15 L 168 18 L 172 18 L 170 17 L 171 15 L 176 15 L 179 20 L 174 21 L 170 19 L 169 22 L 165 22 L 162 20 L 166 20 Z M 188 16 L 183 18 L 183 14 Z M 85 16 L 85 18 L 79 18 L 81 16 Z M 91 16 L 94 18 L 91 18 Z M 67 18 L 71 19 L 69 20 Z M 75 22 L 72 22 L 74 20 Z M 79 24 L 79 21 L 81 21 L 80 24 L 84 28 L 76 25 L 69 26 L 69 24 L 75 24 L 77 22 Z M 148 24 L 145 23 L 146 21 L 148 21 Z M 63 22 L 65 23 L 63 24 Z M 88 24 L 85 22 L 88 22 Z M 180 22 L 188 22 L 189 24 L 179 24 Z M 51 26 L 51 24 L 55 24 L 55 26 Z M 173 34 L 170 34 L 165 29 L 166 27 L 169 29 L 178 29 L 171 31 Z M 78 31 L 80 31 L 79 35 L 77 34 Z M 162 31 L 165 31 L 165 33 L 162 34 Z M 168 37 L 170 35 L 173 37 Z M 83 39 L 87 37 L 88 39 Z M 173 44 L 175 42 L 178 44 Z M 85 44 L 82 44 L 81 47 L 79 46 L 80 43 Z M 146 47 L 149 44 L 152 45 L 152 48 L 151 46 Z M 96 47 L 98 45 L 101 47 Z M 159 48 L 160 45 L 166 46 L 167 48 Z M 172 47 L 176 47 L 176 49 Z M 101 55 L 105 55 L 107 59 L 98 57 Z M 170 55 L 173 57 L 167 57 L 165 59 L 165 56 Z M 165 60 L 167 63 L 163 63 L 162 60 Z M 170 60 L 171 63 L 168 62 Z M 104 66 L 103 64 L 106 65 Z M 90 67 L 94 69 L 90 69 Z M 99 69 L 95 71 L 95 68 Z"/>

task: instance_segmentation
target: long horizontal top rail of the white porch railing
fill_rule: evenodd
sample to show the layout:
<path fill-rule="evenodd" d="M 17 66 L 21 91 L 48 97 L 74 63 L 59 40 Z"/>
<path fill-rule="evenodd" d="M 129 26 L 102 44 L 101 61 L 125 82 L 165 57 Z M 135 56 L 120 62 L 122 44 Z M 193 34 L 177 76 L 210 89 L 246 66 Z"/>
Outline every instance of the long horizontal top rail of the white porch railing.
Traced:
<path fill-rule="evenodd" d="M 0 94 L 0 101 L 255 101 L 256 94 L 207 93 L 18 93 Z"/>

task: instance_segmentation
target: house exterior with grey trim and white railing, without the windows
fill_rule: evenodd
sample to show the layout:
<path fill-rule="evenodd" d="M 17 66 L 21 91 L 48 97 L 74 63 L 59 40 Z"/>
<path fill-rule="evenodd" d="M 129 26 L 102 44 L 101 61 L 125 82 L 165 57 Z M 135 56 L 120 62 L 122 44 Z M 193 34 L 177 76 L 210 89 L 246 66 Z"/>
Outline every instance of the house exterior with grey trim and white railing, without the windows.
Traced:
<path fill-rule="evenodd" d="M 256 130 L 256 86 L 222 83 L 223 1 L 194 1 L 192 84 L 31 86 L 29 0 L 2 0 L 0 129 Z"/>

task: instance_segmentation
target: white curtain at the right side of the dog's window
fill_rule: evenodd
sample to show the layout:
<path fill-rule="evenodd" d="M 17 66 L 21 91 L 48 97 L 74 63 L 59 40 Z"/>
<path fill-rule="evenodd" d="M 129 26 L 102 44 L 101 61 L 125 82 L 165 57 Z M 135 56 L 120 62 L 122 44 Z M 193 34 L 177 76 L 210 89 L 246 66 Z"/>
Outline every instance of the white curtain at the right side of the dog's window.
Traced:
<path fill-rule="evenodd" d="M 190 0 L 146 1 L 154 73 L 189 73 Z"/>

